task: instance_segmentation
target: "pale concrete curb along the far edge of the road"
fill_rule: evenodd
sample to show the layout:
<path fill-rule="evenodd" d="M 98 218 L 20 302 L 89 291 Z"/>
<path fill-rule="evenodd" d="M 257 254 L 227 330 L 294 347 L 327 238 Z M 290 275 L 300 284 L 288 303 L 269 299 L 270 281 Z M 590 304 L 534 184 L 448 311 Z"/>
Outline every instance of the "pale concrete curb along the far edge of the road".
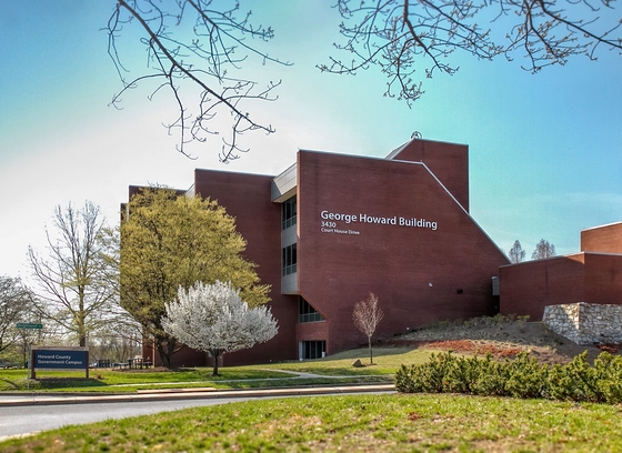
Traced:
<path fill-rule="evenodd" d="M 221 397 L 274 397 L 274 396 L 304 396 L 323 394 L 370 393 L 395 391 L 394 384 L 375 385 L 347 385 L 347 386 L 319 386 L 298 389 L 261 389 L 261 390 L 203 390 L 191 389 L 168 393 L 131 393 L 131 394 L 81 394 L 64 396 L 48 396 L 41 394 L 12 394 L 22 396 L 16 400 L 2 400 L 0 395 L 0 407 L 52 405 L 52 404 L 92 404 L 92 403 L 128 403 L 146 401 L 171 401 L 171 400 L 207 400 Z M 4 393 L 6 395 L 6 393 Z"/>

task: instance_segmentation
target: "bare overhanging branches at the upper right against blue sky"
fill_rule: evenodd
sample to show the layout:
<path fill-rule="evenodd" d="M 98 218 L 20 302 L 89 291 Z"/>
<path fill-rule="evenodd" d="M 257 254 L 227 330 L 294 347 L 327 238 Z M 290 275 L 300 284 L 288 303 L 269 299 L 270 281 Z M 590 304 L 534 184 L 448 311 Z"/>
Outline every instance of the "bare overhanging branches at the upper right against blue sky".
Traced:
<path fill-rule="evenodd" d="M 599 48 L 622 50 L 620 17 L 601 0 L 337 0 L 348 60 L 331 58 L 322 71 L 353 74 L 378 66 L 388 77 L 385 95 L 409 105 L 423 94 L 422 79 L 453 74 L 449 57 L 464 51 L 491 60 L 516 53 L 538 72 L 572 56 L 596 59 Z M 482 28 L 481 23 L 490 23 Z M 418 69 L 423 77 L 417 76 Z"/>

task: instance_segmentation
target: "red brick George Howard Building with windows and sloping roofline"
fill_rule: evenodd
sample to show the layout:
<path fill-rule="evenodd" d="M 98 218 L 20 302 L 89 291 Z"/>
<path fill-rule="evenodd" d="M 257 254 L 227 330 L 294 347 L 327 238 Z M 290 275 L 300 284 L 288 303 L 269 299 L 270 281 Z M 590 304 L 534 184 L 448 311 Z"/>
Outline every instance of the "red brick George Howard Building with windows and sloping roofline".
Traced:
<path fill-rule="evenodd" d="M 364 344 L 352 311 L 370 292 L 384 312 L 374 339 L 498 311 L 492 282 L 508 259 L 469 213 L 466 145 L 412 140 L 385 159 L 301 150 L 275 177 L 195 170 L 188 193 L 237 219 L 245 256 L 272 288 L 278 335 L 227 365 Z M 204 361 L 190 350 L 173 358 Z"/>

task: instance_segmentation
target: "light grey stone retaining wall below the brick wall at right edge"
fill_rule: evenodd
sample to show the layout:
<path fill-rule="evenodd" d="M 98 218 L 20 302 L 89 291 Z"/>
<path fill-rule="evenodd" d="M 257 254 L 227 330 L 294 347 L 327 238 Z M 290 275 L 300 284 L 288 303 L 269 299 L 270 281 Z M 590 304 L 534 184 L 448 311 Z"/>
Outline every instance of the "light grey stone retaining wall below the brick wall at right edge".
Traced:
<path fill-rule="evenodd" d="M 546 305 L 542 322 L 576 344 L 622 344 L 622 305 Z"/>

